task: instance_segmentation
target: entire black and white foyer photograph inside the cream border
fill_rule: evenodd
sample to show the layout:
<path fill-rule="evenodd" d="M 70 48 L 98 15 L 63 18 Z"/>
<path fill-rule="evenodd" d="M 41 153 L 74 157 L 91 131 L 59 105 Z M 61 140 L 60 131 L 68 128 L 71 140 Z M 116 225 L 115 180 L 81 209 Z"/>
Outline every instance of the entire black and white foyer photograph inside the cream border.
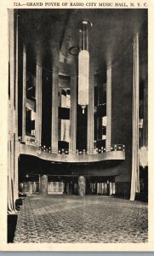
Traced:
<path fill-rule="evenodd" d="M 8 10 L 8 243 L 148 242 L 147 20 Z"/>

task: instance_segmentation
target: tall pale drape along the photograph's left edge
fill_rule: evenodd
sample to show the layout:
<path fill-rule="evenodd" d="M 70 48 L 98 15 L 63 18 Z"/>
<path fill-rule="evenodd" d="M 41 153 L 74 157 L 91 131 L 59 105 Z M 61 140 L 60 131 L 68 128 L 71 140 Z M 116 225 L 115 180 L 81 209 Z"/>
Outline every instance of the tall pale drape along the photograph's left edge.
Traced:
<path fill-rule="evenodd" d="M 17 15 L 9 9 L 9 141 L 8 141 L 8 212 L 15 213 L 15 200 L 18 198 L 18 157 L 15 137 L 18 136 L 17 106 L 15 96 L 18 91 L 18 33 Z M 16 42 L 16 44 L 15 44 Z M 14 91 L 15 87 L 15 91 Z"/>

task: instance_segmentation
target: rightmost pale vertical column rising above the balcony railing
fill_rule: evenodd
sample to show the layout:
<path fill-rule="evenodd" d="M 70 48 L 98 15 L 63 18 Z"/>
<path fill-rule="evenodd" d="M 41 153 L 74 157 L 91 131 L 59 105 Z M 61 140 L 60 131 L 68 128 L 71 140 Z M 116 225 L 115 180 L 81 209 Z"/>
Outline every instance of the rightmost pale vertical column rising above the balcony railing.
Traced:
<path fill-rule="evenodd" d="M 111 146 L 111 67 L 106 73 L 106 147 Z"/>

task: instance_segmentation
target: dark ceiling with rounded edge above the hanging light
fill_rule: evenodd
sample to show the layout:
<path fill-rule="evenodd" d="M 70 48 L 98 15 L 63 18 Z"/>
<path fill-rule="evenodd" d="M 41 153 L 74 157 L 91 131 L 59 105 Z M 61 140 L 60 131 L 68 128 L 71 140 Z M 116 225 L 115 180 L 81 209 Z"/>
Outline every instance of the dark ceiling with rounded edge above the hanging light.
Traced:
<path fill-rule="evenodd" d="M 146 20 L 146 9 L 20 9 L 20 34 L 27 51 L 43 67 L 64 73 L 77 67 L 78 23 L 89 20 L 90 68 L 98 72 L 124 54 L 134 34 Z M 60 52 L 59 52 L 60 49 Z M 59 65 L 60 61 L 60 65 Z"/>

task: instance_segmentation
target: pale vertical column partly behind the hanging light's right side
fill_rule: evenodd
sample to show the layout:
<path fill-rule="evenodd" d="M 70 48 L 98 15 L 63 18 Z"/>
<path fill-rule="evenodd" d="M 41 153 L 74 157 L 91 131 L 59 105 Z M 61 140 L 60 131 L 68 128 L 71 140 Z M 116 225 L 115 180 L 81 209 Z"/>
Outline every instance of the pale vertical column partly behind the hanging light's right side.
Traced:
<path fill-rule="evenodd" d="M 94 75 L 89 77 L 87 151 L 94 149 Z"/>

